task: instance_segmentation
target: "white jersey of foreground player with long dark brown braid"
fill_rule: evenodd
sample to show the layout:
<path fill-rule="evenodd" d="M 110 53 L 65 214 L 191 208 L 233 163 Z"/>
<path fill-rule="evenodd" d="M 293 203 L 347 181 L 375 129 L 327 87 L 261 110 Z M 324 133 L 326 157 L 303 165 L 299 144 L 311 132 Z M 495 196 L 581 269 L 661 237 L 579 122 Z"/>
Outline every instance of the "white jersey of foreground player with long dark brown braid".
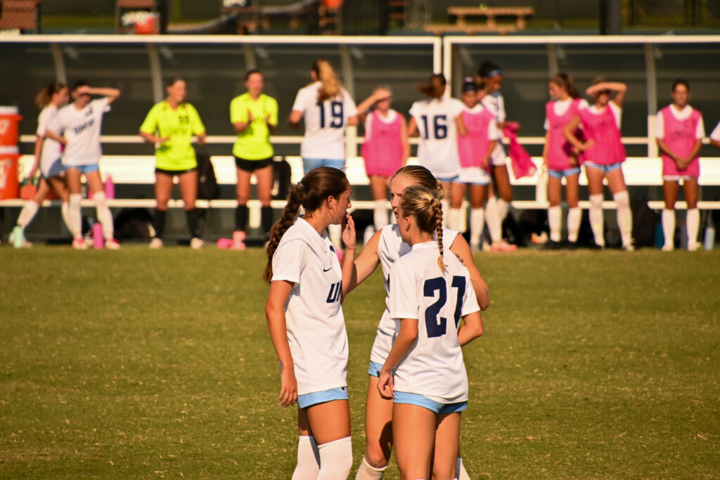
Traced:
<path fill-rule="evenodd" d="M 272 258 L 272 281 L 294 284 L 285 306 L 297 394 L 347 386 L 348 335 L 340 301 L 343 275 L 333 243 L 298 218 Z"/>

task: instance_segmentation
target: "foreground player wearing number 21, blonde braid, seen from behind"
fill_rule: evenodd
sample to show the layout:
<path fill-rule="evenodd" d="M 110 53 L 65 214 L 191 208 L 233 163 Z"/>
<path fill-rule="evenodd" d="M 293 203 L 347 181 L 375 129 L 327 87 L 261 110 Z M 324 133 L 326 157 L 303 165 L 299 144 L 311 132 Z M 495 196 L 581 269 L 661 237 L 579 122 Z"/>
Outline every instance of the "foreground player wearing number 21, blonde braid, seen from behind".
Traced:
<path fill-rule="evenodd" d="M 390 270 L 395 340 L 378 389 L 392 397 L 402 478 L 455 479 L 460 417 L 468 399 L 461 347 L 482 335 L 480 307 L 467 268 L 443 246 L 437 196 L 410 186 L 397 212 L 400 236 L 412 251 Z"/>

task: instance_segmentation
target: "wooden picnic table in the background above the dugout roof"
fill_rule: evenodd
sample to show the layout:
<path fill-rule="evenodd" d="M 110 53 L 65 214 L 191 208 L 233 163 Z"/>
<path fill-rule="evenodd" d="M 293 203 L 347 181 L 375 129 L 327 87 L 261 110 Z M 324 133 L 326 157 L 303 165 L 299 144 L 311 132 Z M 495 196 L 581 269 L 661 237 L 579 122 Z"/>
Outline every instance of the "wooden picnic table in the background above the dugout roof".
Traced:
<path fill-rule="evenodd" d="M 448 14 L 456 17 L 454 24 L 428 24 L 425 30 L 435 35 L 443 33 L 464 32 L 467 35 L 481 32 L 498 32 L 505 35 L 516 30 L 525 30 L 525 17 L 533 15 L 535 9 L 531 6 L 449 6 Z M 466 17 L 485 17 L 484 24 L 472 24 L 466 22 Z M 515 24 L 498 24 L 497 17 L 516 17 Z"/>

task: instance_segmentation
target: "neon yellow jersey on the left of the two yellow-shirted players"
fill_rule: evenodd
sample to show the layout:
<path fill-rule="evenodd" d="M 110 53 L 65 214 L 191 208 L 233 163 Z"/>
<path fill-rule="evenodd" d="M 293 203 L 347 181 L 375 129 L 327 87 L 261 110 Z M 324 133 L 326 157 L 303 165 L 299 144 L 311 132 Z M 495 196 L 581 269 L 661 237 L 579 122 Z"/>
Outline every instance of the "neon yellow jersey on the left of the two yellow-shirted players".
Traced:
<path fill-rule="evenodd" d="M 148 112 L 140 132 L 168 138 L 155 150 L 155 166 L 163 170 L 187 170 L 197 167 L 192 136 L 200 135 L 205 127 L 191 104 L 182 103 L 176 110 L 161 101 Z"/>

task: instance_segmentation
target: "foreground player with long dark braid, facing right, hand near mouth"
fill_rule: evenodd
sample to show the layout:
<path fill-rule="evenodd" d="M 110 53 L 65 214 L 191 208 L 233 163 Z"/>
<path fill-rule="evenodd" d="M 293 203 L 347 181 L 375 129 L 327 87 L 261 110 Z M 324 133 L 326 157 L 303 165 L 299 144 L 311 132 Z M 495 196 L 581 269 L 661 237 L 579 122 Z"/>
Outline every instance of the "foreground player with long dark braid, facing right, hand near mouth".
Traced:
<path fill-rule="evenodd" d="M 348 340 L 341 302 L 354 272 L 355 229 L 343 171 L 319 167 L 290 189 L 271 230 L 265 313 L 281 367 L 279 401 L 297 401 L 300 440 L 293 479 L 346 479 L 353 463 Z M 303 217 L 298 210 L 305 209 Z M 297 217 L 297 219 L 296 219 Z M 346 223 L 343 265 L 325 228 Z"/>

